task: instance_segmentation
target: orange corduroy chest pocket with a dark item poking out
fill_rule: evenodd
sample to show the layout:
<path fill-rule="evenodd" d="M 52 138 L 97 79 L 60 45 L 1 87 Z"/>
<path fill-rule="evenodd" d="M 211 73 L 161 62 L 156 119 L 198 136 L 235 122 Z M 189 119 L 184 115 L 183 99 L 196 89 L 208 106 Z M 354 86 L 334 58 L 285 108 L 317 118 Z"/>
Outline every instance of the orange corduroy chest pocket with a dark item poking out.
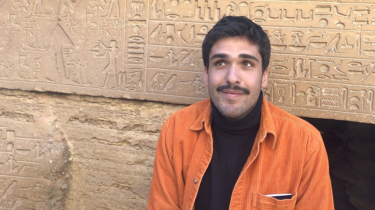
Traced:
<path fill-rule="evenodd" d="M 297 194 L 291 199 L 277 200 L 276 198 L 254 192 L 252 210 L 293 210 L 296 206 Z"/>

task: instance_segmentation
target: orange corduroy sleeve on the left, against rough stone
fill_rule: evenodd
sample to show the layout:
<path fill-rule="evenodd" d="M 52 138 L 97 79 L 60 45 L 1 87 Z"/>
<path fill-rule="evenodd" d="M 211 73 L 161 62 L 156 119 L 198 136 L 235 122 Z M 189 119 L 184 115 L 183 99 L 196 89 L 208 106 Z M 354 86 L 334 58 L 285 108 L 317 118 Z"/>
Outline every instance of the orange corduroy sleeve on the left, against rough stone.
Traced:
<path fill-rule="evenodd" d="M 147 210 L 180 210 L 169 129 L 167 119 L 157 141 Z"/>

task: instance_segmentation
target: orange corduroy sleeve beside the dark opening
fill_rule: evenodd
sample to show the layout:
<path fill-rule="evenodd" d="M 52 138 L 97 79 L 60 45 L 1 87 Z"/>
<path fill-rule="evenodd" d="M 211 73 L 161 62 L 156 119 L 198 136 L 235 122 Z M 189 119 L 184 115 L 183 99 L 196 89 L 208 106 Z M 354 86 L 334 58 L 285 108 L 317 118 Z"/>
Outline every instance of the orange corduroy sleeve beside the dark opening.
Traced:
<path fill-rule="evenodd" d="M 326 148 L 320 134 L 311 139 L 294 210 L 334 210 Z"/>

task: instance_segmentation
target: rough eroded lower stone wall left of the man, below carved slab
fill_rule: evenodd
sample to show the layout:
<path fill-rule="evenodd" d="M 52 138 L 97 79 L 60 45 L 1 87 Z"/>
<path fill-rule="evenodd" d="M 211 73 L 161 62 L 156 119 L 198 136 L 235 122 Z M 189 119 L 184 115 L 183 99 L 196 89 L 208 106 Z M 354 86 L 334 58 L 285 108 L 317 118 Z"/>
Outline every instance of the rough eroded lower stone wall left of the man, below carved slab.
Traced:
<path fill-rule="evenodd" d="M 184 107 L 8 89 L 0 101 L 5 209 L 146 209 L 160 127 Z"/>

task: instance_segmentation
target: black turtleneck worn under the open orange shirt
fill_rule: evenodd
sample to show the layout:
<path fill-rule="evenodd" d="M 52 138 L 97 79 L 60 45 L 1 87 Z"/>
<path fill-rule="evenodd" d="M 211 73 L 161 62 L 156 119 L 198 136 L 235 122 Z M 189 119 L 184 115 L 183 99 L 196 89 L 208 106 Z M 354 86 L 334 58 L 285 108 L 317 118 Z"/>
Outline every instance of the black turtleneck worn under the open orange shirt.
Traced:
<path fill-rule="evenodd" d="M 234 185 L 248 160 L 257 135 L 263 93 L 245 118 L 231 121 L 212 107 L 213 154 L 195 199 L 195 210 L 228 210 Z"/>

